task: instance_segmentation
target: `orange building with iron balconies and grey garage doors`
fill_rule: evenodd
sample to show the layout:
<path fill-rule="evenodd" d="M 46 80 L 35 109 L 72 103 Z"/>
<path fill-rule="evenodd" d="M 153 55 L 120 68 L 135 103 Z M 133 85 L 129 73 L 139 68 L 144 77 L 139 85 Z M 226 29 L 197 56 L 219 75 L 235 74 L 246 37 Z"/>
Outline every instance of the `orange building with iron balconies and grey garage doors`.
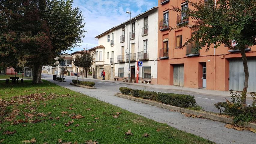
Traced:
<path fill-rule="evenodd" d="M 244 70 L 238 49 L 220 46 L 209 51 L 194 50 L 195 44 L 178 47 L 191 38 L 188 28 L 169 31 L 181 23 L 192 24 L 184 13 L 166 10 L 172 5 L 190 7 L 182 0 L 158 0 L 158 84 L 220 91 L 242 91 Z M 256 46 L 246 47 L 249 69 L 249 92 L 256 92 Z"/>

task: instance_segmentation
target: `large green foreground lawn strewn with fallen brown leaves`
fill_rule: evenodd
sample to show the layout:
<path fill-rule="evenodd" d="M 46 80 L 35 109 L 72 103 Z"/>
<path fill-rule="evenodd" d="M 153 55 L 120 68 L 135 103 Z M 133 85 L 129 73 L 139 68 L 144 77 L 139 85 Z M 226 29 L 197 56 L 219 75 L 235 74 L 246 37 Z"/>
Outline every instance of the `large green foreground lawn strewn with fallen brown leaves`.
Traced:
<path fill-rule="evenodd" d="M 30 80 L 8 85 L 0 81 L 0 143 L 2 140 L 4 144 L 19 144 L 35 138 L 38 144 L 56 144 L 59 139 L 62 143 L 78 144 L 88 140 L 99 144 L 213 144 L 166 124 L 43 81 L 38 85 L 31 84 Z M 41 96 L 30 95 L 44 92 Z M 116 112 L 121 114 L 117 115 Z M 125 134 L 128 130 L 132 135 Z M 6 131 L 16 132 L 7 135 Z M 145 133 L 149 137 L 142 136 Z"/>

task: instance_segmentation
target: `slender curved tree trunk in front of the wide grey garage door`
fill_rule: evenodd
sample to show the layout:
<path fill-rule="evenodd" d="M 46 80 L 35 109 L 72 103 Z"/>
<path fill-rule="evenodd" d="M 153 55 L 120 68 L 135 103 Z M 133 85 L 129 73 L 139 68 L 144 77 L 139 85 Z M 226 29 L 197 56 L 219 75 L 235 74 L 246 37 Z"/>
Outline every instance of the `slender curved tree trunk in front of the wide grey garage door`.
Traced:
<path fill-rule="evenodd" d="M 246 58 L 246 54 L 245 54 L 245 45 L 242 45 L 242 47 L 241 47 L 241 55 L 242 55 L 242 61 L 243 61 L 243 66 L 244 66 L 244 73 L 245 73 L 244 88 L 242 91 L 241 104 L 242 104 L 242 110 L 243 110 L 243 112 L 245 112 L 245 110 L 246 110 L 246 93 L 247 93 L 248 80 L 249 80 L 249 70 L 248 70 L 247 58 Z"/>

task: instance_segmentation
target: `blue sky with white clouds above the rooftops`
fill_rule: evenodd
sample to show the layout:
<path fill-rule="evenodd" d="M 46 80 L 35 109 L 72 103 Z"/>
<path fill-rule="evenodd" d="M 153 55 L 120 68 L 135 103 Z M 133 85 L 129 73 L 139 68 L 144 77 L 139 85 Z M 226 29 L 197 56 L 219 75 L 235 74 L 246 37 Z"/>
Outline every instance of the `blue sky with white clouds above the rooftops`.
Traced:
<path fill-rule="evenodd" d="M 125 13 L 126 11 L 131 11 L 131 17 L 134 17 L 157 6 L 157 2 L 157 0 L 74 0 L 74 7 L 78 6 L 83 13 L 86 23 L 84 29 L 88 32 L 80 47 L 67 52 L 83 50 L 86 45 L 88 49 L 98 46 L 95 36 L 128 20 L 130 15 Z"/>

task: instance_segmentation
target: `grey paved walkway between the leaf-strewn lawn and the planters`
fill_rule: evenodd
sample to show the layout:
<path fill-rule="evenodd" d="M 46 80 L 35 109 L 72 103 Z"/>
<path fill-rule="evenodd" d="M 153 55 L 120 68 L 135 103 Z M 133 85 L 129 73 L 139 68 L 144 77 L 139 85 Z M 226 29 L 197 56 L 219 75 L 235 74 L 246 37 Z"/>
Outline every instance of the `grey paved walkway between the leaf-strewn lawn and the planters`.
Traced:
<path fill-rule="evenodd" d="M 44 79 L 53 82 L 49 77 Z M 160 107 L 116 97 L 114 96 L 114 92 L 108 91 L 104 88 L 86 89 L 76 87 L 70 85 L 70 81 L 70 79 L 67 79 L 67 82 L 57 82 L 57 85 L 86 94 L 93 98 L 97 98 L 101 101 L 105 101 L 132 113 L 153 119 L 157 122 L 166 123 L 167 125 L 170 125 L 174 128 L 195 134 L 218 144 L 256 143 L 256 134 L 250 131 L 237 131 L 235 129 L 228 129 L 224 127 L 225 123 L 215 122 L 209 119 L 186 118 L 181 113 L 171 112 Z"/>

